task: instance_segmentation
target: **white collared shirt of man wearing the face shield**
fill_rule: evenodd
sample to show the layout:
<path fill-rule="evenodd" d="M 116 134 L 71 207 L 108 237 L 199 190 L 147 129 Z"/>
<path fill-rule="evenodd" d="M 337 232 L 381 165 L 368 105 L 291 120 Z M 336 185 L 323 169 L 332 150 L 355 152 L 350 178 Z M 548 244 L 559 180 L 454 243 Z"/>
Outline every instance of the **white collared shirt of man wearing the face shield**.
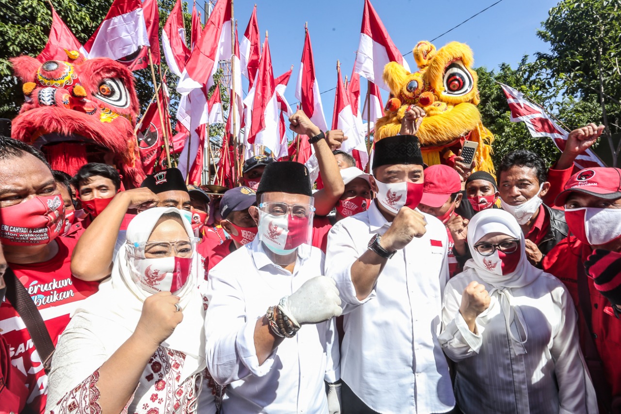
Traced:
<path fill-rule="evenodd" d="M 273 264 L 263 244 L 237 249 L 209 272 L 207 367 L 227 385 L 227 413 L 327 413 L 324 380 L 340 379 L 334 320 L 305 324 L 258 364 L 255 326 L 269 306 L 323 274 L 324 254 L 303 245 L 293 274 Z"/>

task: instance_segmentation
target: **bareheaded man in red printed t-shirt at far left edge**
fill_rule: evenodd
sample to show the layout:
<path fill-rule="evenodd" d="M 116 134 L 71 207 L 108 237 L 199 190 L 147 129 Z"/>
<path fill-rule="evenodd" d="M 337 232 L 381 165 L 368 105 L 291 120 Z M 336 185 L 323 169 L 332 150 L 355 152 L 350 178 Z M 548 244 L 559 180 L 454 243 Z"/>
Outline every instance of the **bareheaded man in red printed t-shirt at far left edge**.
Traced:
<path fill-rule="evenodd" d="M 43 155 L 23 142 L 2 139 L 0 242 L 9 267 L 32 297 L 54 344 L 70 314 L 99 285 L 71 275 L 71 252 L 76 241 L 58 237 L 63 230 L 64 210 Z M 9 345 L 11 364 L 27 377 L 28 408 L 43 412 L 47 393 L 43 362 L 24 321 L 8 300 L 0 305 L 0 329 Z"/>

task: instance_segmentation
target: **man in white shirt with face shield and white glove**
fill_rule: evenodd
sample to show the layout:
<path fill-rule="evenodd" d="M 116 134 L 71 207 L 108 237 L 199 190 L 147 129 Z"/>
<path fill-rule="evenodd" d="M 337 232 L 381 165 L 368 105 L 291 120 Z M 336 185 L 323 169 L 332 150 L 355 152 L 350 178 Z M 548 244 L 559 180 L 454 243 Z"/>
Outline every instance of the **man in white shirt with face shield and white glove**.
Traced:
<path fill-rule="evenodd" d="M 227 413 L 340 413 L 338 290 L 311 246 L 306 167 L 265 167 L 249 211 L 255 239 L 215 265 L 207 281 L 207 368 L 227 385 Z M 325 382 L 329 383 L 326 393 Z"/>

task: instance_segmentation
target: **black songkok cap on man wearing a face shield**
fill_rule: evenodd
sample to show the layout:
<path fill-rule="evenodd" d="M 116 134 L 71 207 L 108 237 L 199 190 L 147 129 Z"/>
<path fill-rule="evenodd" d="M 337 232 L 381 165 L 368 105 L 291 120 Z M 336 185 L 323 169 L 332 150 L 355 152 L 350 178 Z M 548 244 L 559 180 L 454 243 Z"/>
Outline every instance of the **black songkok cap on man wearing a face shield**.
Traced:
<path fill-rule="evenodd" d="M 312 197 L 311 177 L 306 165 L 293 161 L 279 161 L 266 165 L 257 195 L 263 193 L 302 194 Z"/>

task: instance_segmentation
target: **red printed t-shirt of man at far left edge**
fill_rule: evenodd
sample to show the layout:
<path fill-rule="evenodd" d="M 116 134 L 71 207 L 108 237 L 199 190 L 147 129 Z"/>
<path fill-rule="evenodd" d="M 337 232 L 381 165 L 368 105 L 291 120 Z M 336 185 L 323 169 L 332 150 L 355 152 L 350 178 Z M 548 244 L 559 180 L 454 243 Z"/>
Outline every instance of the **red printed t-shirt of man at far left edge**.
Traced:
<path fill-rule="evenodd" d="M 71 275 L 71 252 L 77 241 L 67 237 L 57 237 L 55 241 L 58 253 L 52 260 L 27 265 L 9 263 L 39 308 L 54 344 L 65 330 L 69 315 L 78 307 L 79 301 L 93 295 L 99 288 L 99 282 L 84 282 Z M 29 407 L 34 412 L 43 412 L 47 375 L 24 322 L 6 300 L 0 305 L 0 329 L 2 337 L 9 344 L 11 364 L 27 375 Z"/>

